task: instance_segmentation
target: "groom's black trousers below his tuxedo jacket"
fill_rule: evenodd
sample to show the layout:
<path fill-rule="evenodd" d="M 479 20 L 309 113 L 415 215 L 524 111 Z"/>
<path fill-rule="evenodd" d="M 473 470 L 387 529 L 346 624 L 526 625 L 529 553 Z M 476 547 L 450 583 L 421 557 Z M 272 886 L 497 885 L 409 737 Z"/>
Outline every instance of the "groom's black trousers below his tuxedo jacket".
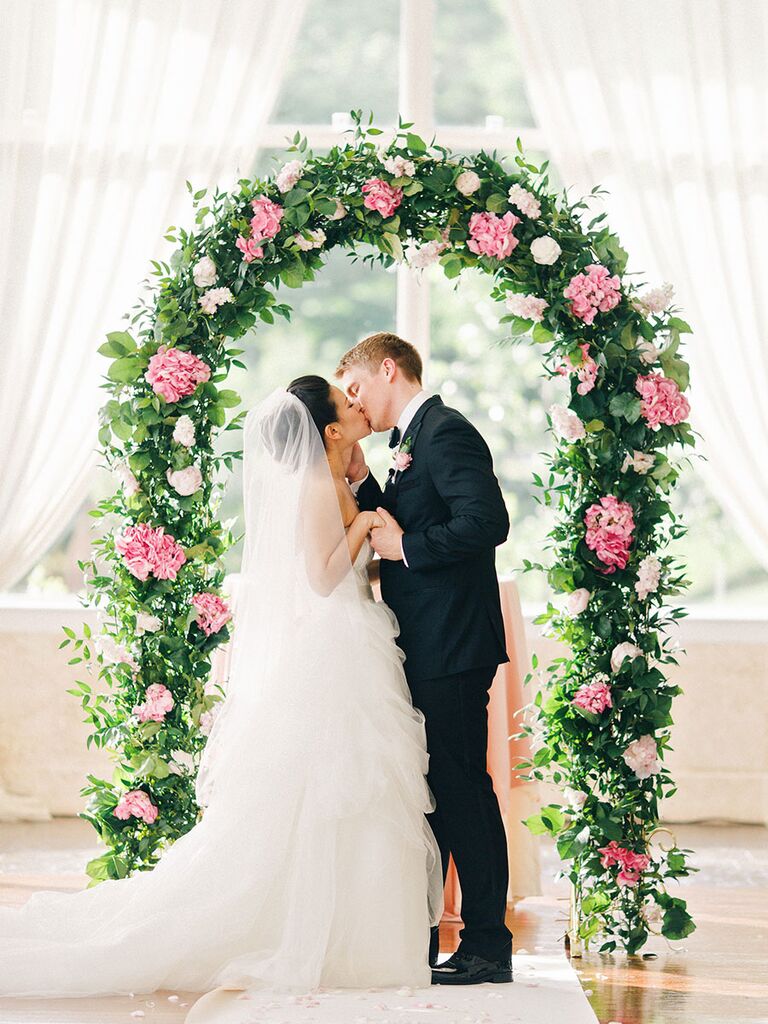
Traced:
<path fill-rule="evenodd" d="M 459 948 L 485 959 L 509 956 L 512 948 L 504 923 L 507 838 L 486 770 L 488 690 L 495 675 L 494 667 L 409 680 L 414 706 L 426 721 L 427 781 L 436 803 L 427 819 L 440 848 L 443 882 L 451 853 L 462 890 Z"/>

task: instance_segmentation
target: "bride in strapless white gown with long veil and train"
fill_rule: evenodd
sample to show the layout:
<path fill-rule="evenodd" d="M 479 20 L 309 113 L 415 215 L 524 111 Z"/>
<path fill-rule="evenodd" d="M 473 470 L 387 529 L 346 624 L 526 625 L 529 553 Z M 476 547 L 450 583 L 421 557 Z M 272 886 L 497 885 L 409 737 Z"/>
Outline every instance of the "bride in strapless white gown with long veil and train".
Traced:
<path fill-rule="evenodd" d="M 0 995 L 430 984 L 424 716 L 345 480 L 371 432 L 323 378 L 245 421 L 246 543 L 202 819 L 153 870 L 0 908 Z M 162 813 L 162 811 L 161 811 Z"/>

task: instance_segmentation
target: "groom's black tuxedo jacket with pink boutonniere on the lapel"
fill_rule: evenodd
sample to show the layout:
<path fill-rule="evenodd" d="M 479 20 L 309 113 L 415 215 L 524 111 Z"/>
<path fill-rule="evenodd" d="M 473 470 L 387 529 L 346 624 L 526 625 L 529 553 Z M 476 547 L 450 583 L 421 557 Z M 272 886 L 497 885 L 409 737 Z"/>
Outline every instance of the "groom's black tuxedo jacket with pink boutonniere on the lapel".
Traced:
<path fill-rule="evenodd" d="M 360 484 L 360 509 L 387 509 L 404 530 L 406 562 L 381 561 L 381 596 L 397 616 L 410 682 L 508 662 L 496 546 L 509 516 L 487 444 L 439 395 L 409 424 L 412 463 L 382 492 Z"/>

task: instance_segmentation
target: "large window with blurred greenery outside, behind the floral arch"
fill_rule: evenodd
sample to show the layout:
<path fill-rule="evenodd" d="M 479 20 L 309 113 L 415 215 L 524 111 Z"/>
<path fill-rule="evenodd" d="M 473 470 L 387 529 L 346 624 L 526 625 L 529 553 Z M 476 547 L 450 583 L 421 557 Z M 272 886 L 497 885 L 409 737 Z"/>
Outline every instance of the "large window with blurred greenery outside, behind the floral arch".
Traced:
<path fill-rule="evenodd" d="M 420 0 L 421 2 L 421 0 Z M 534 160 L 543 160 L 541 139 L 525 94 L 515 40 L 503 16 L 502 0 L 438 0 L 434 4 L 432 45 L 420 39 L 416 59 L 430 60 L 434 86 L 434 124 L 438 140 L 475 152 L 496 147 L 512 153 L 520 135 Z M 301 125 L 310 144 L 322 152 L 331 142 L 332 115 L 349 108 L 372 109 L 381 125 L 394 122 L 398 108 L 400 4 L 373 0 L 323 3 L 310 0 L 304 26 L 287 69 L 282 92 L 254 173 L 283 159 L 276 151 L 286 134 Z M 413 48 L 409 47 L 409 51 Z M 552 168 L 555 187 L 562 187 Z M 541 555 L 554 518 L 536 501 L 532 474 L 546 469 L 543 453 L 550 447 L 546 409 L 562 398 L 559 381 L 542 376 L 540 353 L 529 344 L 505 343 L 499 310 L 487 295 L 487 282 L 465 274 L 457 284 L 433 268 L 418 291 L 428 317 L 426 384 L 468 416 L 486 437 L 508 504 L 512 528 L 499 549 L 500 571 L 510 573 L 525 557 Z M 331 375 L 339 355 L 360 337 L 392 330 L 397 321 L 397 275 L 352 262 L 340 251 L 330 254 L 317 280 L 298 292 L 286 290 L 294 307 L 291 324 L 280 321 L 245 339 L 247 370 L 231 378 L 249 408 L 278 386 L 302 373 Z M 226 432 L 220 451 L 239 446 L 240 434 Z M 233 441 L 236 444 L 233 444 Z M 380 472 L 388 459 L 382 438 L 368 442 L 370 461 Z M 234 463 L 221 510 L 222 518 L 240 517 L 242 532 L 242 467 Z M 77 559 L 89 552 L 88 509 L 111 492 L 103 470 L 94 473 L 93 490 L 58 543 L 15 588 L 17 591 L 80 589 Z M 740 541 L 697 473 L 696 461 L 686 469 L 675 507 L 688 526 L 675 551 L 688 564 L 690 604 L 731 608 L 765 604 L 768 572 Z M 237 571 L 241 548 L 227 554 Z M 546 600 L 545 581 L 519 574 L 523 601 Z"/>

